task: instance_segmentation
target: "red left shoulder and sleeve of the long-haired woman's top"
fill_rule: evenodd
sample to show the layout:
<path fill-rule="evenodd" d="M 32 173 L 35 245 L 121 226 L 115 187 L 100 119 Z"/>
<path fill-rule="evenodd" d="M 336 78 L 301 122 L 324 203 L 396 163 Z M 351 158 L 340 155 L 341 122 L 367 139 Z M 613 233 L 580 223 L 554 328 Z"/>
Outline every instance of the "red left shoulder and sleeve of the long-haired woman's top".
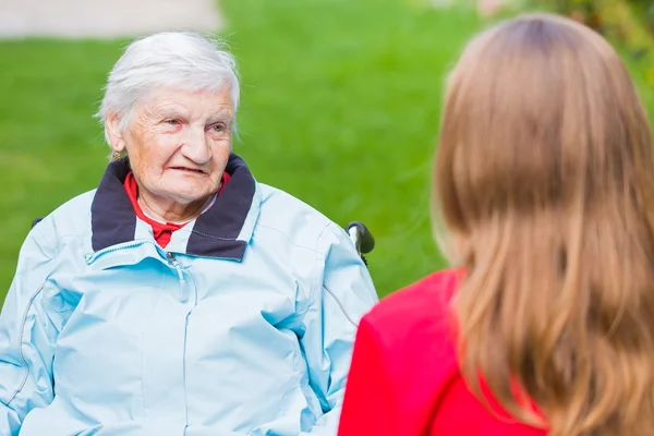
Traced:
<path fill-rule="evenodd" d="M 361 320 L 340 436 L 425 435 L 440 393 L 458 374 L 443 271 L 383 299 Z"/>

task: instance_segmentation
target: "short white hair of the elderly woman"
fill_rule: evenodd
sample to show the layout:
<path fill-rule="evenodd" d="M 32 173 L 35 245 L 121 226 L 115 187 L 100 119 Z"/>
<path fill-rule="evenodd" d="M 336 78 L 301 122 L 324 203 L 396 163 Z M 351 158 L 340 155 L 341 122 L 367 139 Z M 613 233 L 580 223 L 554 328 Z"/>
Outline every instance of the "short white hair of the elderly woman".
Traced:
<path fill-rule="evenodd" d="M 97 113 L 105 136 L 109 116 L 118 116 L 120 129 L 125 129 L 134 104 L 161 86 L 184 90 L 229 86 L 235 113 L 240 95 L 237 61 L 225 46 L 193 32 L 161 32 L 130 44 L 109 74 Z"/>

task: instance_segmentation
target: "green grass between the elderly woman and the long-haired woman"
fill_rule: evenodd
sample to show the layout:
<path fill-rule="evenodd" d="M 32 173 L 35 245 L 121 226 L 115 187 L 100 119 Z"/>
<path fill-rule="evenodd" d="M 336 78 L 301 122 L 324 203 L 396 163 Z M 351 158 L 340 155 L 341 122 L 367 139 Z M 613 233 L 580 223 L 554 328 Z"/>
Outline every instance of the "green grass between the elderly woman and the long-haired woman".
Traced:
<path fill-rule="evenodd" d="M 384 295 L 443 266 L 428 217 L 445 74 L 477 26 L 390 0 L 227 0 L 241 61 L 237 150 L 335 221 L 370 226 Z"/>

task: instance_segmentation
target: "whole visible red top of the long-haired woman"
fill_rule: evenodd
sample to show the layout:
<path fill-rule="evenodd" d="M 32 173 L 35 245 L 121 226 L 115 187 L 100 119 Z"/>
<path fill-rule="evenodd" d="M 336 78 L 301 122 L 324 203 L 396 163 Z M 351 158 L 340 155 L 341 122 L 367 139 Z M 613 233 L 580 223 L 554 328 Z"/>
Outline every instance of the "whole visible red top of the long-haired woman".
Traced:
<path fill-rule="evenodd" d="M 457 363 L 443 271 L 384 299 L 359 326 L 339 436 L 545 436 L 488 412 Z M 494 410 L 499 404 L 489 399 Z"/>

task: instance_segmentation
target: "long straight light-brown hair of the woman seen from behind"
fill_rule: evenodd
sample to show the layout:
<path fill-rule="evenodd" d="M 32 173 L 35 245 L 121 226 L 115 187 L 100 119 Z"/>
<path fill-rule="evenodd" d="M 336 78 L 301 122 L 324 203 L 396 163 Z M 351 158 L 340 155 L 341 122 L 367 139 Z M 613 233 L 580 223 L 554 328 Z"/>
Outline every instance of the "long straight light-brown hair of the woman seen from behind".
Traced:
<path fill-rule="evenodd" d="M 652 146 L 619 56 L 573 21 L 501 23 L 450 76 L 435 199 L 468 271 L 461 364 L 552 435 L 654 428 Z"/>

